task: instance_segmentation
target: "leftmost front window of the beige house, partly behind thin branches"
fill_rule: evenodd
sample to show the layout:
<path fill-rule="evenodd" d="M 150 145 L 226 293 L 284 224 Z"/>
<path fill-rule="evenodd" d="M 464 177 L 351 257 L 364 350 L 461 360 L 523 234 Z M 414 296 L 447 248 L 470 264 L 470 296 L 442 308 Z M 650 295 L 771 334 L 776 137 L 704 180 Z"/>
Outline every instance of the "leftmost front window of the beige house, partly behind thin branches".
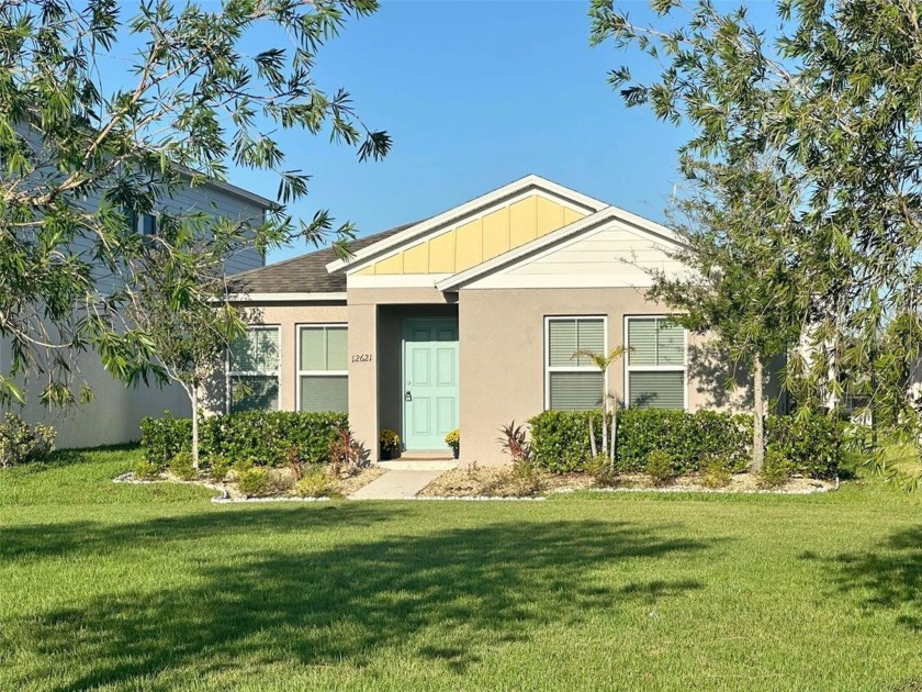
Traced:
<path fill-rule="evenodd" d="M 279 327 L 250 327 L 231 345 L 227 411 L 279 410 Z"/>

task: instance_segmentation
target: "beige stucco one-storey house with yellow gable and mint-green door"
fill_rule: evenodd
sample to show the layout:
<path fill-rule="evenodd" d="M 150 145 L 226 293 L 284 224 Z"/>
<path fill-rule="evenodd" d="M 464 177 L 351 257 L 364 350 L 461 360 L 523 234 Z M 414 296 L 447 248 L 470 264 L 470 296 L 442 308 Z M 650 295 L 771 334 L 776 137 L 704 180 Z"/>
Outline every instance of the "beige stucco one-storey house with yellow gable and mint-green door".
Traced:
<path fill-rule="evenodd" d="M 544 409 L 600 404 L 577 349 L 630 347 L 608 391 L 632 406 L 740 408 L 707 343 L 645 298 L 649 269 L 683 271 L 656 223 L 538 176 L 352 244 L 236 276 L 251 324 L 231 349 L 227 410 L 348 411 L 378 455 L 502 461 L 497 428 Z"/>

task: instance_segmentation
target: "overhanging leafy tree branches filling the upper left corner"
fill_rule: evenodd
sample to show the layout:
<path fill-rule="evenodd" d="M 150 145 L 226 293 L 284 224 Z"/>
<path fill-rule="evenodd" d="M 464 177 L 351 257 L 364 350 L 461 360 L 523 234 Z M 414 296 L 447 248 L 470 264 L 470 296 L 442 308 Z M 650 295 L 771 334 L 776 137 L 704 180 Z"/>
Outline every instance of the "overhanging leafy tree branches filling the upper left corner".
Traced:
<path fill-rule="evenodd" d="M 327 94 L 313 77 L 321 46 L 376 7 L 145 0 L 126 19 L 113 0 L 0 4 L 0 336 L 12 345 L 0 403 L 22 401 L 13 378 L 36 371 L 48 382 L 43 402 L 71 403 L 74 356 L 91 348 L 119 379 L 167 381 L 157 344 L 130 313 L 151 265 L 194 264 L 185 256 L 194 244 L 173 242 L 181 234 L 227 256 L 333 231 L 326 212 L 297 223 L 288 213 L 310 177 L 288 164 L 274 133 L 326 132 L 362 160 L 386 154 L 386 133 L 363 124 L 346 91 Z M 257 30 L 271 43 L 251 55 Z M 137 45 L 131 82 L 104 81 L 101 63 L 124 59 L 126 44 Z M 265 220 L 161 214 L 156 253 L 128 227 L 178 190 L 224 179 L 232 164 L 278 179 L 279 204 Z M 348 224 L 336 228 L 340 253 L 351 236 Z M 189 272 L 159 276 L 175 281 L 159 287 L 171 305 L 202 314 L 209 291 L 185 284 Z M 81 398 L 91 395 L 83 382 Z"/>

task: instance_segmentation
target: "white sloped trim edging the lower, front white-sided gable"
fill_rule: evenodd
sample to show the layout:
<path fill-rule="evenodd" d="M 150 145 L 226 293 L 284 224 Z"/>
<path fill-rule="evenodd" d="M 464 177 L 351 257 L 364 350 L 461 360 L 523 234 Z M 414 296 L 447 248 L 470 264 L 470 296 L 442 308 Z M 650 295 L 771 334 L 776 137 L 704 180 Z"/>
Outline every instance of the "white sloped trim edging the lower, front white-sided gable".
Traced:
<path fill-rule="evenodd" d="M 560 249 L 558 245 L 560 243 L 575 242 L 585 233 L 604 231 L 606 224 L 610 224 L 611 222 L 621 222 L 631 226 L 629 228 L 630 231 L 641 231 L 648 235 L 653 235 L 659 239 L 665 241 L 670 245 L 681 245 L 677 236 L 665 226 L 641 219 L 640 216 L 626 212 L 617 207 L 607 207 L 594 214 L 589 214 L 578 221 L 574 221 L 570 225 L 552 231 L 539 238 L 535 238 L 525 245 L 520 245 L 508 253 L 503 253 L 502 255 L 475 265 L 470 269 L 459 271 L 448 279 L 439 281 L 436 288 L 440 291 L 458 290 L 464 284 L 470 283 L 491 271 L 495 271 L 496 269 L 511 269 L 526 258 L 538 259 L 550 253 L 556 252 Z"/>

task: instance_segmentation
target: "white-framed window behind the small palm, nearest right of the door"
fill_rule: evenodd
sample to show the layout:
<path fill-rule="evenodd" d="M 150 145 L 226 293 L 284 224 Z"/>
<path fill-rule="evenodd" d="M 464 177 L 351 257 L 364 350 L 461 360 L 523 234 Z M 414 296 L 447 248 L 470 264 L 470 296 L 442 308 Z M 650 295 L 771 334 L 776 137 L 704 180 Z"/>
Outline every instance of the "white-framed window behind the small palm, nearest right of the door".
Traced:
<path fill-rule="evenodd" d="M 544 404 L 548 409 L 586 411 L 601 405 L 605 381 L 601 371 L 577 350 L 607 350 L 605 317 L 547 317 L 544 341 Z"/>

